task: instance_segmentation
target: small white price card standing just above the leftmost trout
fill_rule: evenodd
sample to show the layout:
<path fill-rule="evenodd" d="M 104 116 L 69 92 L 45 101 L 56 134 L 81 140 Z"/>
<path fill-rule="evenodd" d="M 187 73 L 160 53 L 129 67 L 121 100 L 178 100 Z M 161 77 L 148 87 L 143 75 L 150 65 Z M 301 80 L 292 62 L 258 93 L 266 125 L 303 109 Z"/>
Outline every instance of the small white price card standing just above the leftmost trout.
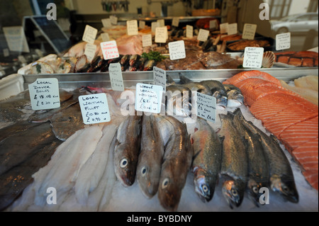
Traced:
<path fill-rule="evenodd" d="M 197 115 L 212 123 L 216 122 L 216 98 L 197 92 Z"/>

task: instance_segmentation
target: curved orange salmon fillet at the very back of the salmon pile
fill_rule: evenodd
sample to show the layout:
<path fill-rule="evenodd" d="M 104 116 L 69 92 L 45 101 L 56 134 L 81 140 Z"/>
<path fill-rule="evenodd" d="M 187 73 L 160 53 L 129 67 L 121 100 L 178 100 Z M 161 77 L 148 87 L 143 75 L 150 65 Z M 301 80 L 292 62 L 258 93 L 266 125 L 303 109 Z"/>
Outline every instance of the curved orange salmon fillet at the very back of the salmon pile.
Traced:
<path fill-rule="evenodd" d="M 272 81 L 280 86 L 279 79 L 272 77 L 272 75 L 268 74 L 267 72 L 260 72 L 258 70 L 240 72 L 238 74 L 235 74 L 233 77 L 223 81 L 223 84 L 233 84 L 234 86 L 236 86 L 238 82 L 248 78 L 264 79 L 266 81 Z"/>

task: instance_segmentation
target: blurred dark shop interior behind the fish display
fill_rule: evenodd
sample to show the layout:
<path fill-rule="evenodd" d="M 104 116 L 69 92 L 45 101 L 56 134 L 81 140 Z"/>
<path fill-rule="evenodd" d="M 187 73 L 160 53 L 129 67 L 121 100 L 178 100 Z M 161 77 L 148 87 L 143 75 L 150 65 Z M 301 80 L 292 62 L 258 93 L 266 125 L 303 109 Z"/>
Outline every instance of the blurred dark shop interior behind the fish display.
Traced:
<path fill-rule="evenodd" d="M 50 3 L 57 6 L 57 21 L 45 19 Z M 269 20 L 259 18 L 262 3 L 269 5 Z M 14 71 L 41 54 L 60 52 L 82 40 L 86 24 L 101 30 L 101 19 L 112 15 L 118 24 L 138 19 L 150 25 L 158 18 L 165 18 L 166 23 L 172 17 L 184 18 L 189 24 L 192 17 L 208 9 L 218 10 L 213 17 L 220 23 L 237 23 L 239 32 L 245 23 L 257 24 L 256 32 L 265 37 L 290 32 L 292 51 L 318 47 L 318 0 L 0 0 L 0 62 L 13 64 L 10 68 Z M 21 28 L 26 36 L 18 51 L 6 41 L 8 27 Z"/>

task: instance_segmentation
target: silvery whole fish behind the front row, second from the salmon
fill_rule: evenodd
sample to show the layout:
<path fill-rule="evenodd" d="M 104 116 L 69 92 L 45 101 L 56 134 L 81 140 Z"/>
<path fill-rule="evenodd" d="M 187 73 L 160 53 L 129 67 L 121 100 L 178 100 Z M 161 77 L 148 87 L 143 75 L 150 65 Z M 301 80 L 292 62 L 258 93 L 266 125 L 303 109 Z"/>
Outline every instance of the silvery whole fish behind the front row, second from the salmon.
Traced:
<path fill-rule="evenodd" d="M 200 82 L 203 85 L 208 86 L 211 90 L 211 94 L 216 98 L 216 105 L 222 108 L 228 106 L 228 95 L 225 90 L 225 87 L 220 81 L 217 80 L 205 80 Z"/>

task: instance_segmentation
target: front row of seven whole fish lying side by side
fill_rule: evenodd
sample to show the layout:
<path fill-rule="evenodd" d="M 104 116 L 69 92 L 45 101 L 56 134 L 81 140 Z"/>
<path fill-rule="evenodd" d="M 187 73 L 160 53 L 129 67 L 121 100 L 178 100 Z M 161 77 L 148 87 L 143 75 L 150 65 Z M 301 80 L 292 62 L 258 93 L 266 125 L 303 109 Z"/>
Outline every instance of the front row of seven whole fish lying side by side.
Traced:
<path fill-rule="evenodd" d="M 118 128 L 114 150 L 118 181 L 132 186 L 136 176 L 145 197 L 158 192 L 159 203 L 170 211 L 178 208 L 190 167 L 203 202 L 213 198 L 222 179 L 230 208 L 241 205 L 245 192 L 259 206 L 261 188 L 298 203 L 293 171 L 276 138 L 245 120 L 240 108 L 220 118 L 219 132 L 198 118 L 189 136 L 186 124 L 172 116 L 128 116 Z"/>

